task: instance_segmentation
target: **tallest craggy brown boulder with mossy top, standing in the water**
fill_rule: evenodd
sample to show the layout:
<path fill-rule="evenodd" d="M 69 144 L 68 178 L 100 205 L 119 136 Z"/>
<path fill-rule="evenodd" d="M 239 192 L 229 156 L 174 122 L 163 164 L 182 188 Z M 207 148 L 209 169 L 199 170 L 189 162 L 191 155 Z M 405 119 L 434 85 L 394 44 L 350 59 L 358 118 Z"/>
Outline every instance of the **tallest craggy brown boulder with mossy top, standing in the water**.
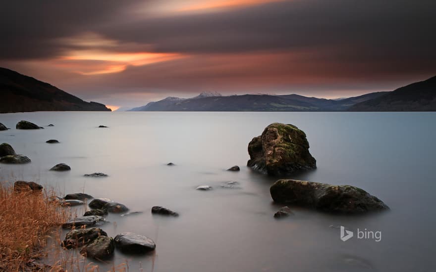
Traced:
<path fill-rule="evenodd" d="M 261 136 L 250 141 L 248 153 L 247 166 L 272 176 L 317 167 L 315 158 L 309 153 L 306 134 L 293 125 L 269 125 Z"/>

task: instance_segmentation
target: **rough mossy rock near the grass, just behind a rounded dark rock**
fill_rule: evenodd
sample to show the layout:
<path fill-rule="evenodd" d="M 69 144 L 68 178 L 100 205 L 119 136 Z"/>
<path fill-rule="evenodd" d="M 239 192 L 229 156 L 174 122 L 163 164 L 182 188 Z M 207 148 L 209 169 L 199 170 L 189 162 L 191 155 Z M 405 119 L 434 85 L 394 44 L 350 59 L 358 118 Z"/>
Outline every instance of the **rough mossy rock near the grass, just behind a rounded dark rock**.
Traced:
<path fill-rule="evenodd" d="M 66 233 L 62 247 L 78 248 L 89 244 L 100 236 L 108 236 L 108 234 L 99 227 L 71 229 Z"/>

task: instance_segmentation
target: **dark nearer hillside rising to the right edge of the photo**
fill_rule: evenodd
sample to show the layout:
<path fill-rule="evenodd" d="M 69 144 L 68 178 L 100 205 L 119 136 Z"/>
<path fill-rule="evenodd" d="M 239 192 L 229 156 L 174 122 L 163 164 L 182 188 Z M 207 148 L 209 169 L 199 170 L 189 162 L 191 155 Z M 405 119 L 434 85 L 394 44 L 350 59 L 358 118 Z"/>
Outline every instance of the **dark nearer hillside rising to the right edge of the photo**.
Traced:
<path fill-rule="evenodd" d="M 436 111 L 436 76 L 356 103 L 350 111 Z"/>

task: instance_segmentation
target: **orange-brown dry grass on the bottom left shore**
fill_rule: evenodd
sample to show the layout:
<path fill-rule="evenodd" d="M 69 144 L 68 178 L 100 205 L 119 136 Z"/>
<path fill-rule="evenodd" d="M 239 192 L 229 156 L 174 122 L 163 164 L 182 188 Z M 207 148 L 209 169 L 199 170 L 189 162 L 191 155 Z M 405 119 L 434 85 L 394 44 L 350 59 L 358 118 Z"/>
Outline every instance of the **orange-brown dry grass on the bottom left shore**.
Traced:
<path fill-rule="evenodd" d="M 47 192 L 14 192 L 0 183 L 0 271 L 35 271 L 35 260 L 53 230 L 68 219 L 68 210 L 49 201 Z"/>

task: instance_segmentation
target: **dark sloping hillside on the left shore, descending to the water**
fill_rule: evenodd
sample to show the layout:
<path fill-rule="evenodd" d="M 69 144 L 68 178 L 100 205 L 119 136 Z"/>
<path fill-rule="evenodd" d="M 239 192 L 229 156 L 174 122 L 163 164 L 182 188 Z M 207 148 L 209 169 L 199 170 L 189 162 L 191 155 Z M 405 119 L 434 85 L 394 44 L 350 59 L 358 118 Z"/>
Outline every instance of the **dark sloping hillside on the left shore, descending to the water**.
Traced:
<path fill-rule="evenodd" d="M 0 67 L 0 113 L 27 111 L 110 111 L 56 87 Z"/>

